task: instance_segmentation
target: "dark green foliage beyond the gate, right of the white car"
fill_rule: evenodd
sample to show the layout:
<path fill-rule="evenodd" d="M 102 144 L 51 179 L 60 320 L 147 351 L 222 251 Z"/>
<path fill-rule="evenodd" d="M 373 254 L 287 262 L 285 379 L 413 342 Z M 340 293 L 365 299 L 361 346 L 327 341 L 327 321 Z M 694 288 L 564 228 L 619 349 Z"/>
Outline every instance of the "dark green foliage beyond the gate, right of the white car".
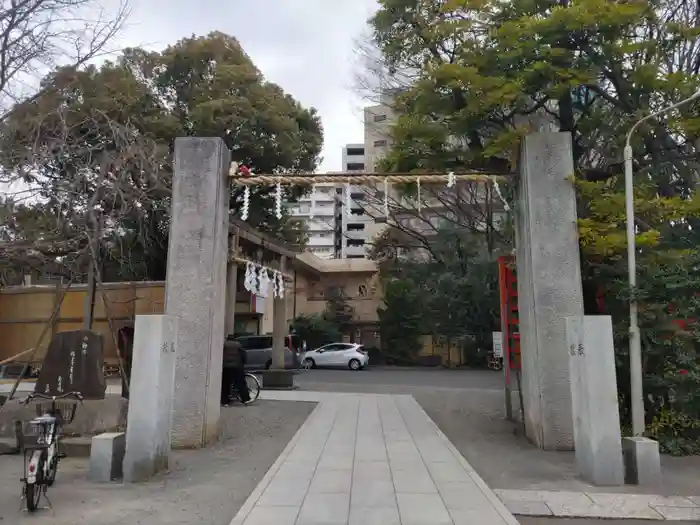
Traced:
<path fill-rule="evenodd" d="M 490 346 L 499 316 L 498 269 L 480 241 L 444 227 L 431 240 L 429 256 L 382 262 L 379 318 L 386 355 L 415 359 L 421 335 Z"/>

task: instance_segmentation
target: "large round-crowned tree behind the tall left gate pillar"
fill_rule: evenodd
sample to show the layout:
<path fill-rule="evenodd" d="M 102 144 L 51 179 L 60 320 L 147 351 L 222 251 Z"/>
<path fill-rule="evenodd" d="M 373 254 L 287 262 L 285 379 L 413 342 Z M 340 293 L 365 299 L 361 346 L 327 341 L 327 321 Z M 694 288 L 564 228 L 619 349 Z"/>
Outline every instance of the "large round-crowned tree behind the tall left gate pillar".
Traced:
<path fill-rule="evenodd" d="M 48 75 L 39 96 L 17 104 L 0 129 L 2 182 L 21 181 L 22 193 L 12 200 L 31 194 L 40 202 L 34 213 L 57 230 L 74 231 L 90 223 L 87 203 L 99 187 L 100 236 L 112 277 L 162 280 L 178 136 L 219 136 L 232 160 L 265 173 L 312 171 L 322 143 L 315 110 L 266 82 L 234 38 L 212 33 L 161 53 L 128 49 L 116 62 Z M 114 178 L 105 158 L 124 155 L 148 161 L 119 161 Z M 300 191 L 290 189 L 289 197 Z M 271 188 L 251 193 L 252 224 L 303 243 L 303 230 L 274 216 Z M 241 201 L 234 187 L 232 214 Z"/>

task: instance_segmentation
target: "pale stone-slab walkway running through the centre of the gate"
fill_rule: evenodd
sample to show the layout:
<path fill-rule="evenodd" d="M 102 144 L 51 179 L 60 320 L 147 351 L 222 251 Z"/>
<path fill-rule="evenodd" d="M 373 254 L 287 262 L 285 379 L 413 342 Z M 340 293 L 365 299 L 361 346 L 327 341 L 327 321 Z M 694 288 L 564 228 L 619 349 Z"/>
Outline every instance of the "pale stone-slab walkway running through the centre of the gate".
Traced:
<path fill-rule="evenodd" d="M 319 405 L 231 525 L 517 525 L 411 396 L 263 392 Z"/>

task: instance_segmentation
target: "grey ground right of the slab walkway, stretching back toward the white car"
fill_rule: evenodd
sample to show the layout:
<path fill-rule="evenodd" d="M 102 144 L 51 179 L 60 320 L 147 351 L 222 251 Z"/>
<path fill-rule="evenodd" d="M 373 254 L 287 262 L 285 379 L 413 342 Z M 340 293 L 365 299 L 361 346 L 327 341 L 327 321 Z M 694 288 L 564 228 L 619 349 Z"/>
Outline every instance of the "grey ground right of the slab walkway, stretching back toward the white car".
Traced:
<path fill-rule="evenodd" d="M 583 482 L 576 474 L 573 452 L 539 450 L 505 419 L 503 376 L 496 372 L 310 370 L 300 374 L 298 382 L 309 390 L 413 395 L 492 489 L 700 495 L 697 456 L 662 456 L 664 483 L 659 488 L 593 487 Z"/>

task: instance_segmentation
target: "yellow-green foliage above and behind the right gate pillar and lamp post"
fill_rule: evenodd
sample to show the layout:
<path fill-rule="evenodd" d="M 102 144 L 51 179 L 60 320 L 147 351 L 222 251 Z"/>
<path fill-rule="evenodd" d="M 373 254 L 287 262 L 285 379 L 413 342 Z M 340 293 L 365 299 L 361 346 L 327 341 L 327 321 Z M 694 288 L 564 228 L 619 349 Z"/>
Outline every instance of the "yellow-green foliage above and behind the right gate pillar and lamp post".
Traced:
<path fill-rule="evenodd" d="M 700 86 L 700 4 L 379 3 L 374 41 L 389 72 L 410 79 L 397 97 L 401 116 L 384 169 L 514 171 L 532 117 L 546 116 L 572 134 L 585 302 L 589 313 L 613 318 L 626 423 L 630 296 L 622 148 L 633 123 Z M 648 432 L 676 454 L 697 452 L 700 439 L 697 324 L 680 329 L 672 322 L 700 319 L 699 109 L 696 101 L 650 119 L 631 143 Z M 454 279 L 435 281 L 461 289 Z M 605 312 L 595 306 L 598 292 Z"/>

